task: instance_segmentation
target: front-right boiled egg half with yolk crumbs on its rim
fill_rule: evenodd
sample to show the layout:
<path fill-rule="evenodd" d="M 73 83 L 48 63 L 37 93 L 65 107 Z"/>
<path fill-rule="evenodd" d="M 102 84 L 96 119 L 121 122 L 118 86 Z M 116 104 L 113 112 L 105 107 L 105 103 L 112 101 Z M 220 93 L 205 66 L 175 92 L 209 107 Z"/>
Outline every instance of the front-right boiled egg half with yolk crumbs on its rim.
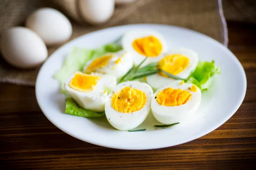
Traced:
<path fill-rule="evenodd" d="M 193 84 L 175 82 L 158 89 L 151 101 L 154 117 L 163 124 L 183 122 L 194 115 L 201 102 L 201 91 Z"/>

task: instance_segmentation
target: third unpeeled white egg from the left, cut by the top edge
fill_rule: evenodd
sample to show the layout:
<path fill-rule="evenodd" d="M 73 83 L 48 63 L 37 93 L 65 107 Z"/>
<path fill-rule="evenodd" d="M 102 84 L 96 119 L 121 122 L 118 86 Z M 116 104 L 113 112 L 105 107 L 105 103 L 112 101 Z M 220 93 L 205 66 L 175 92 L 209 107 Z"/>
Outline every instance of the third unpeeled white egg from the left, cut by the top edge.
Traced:
<path fill-rule="evenodd" d="M 91 24 L 105 23 L 113 14 L 115 0 L 79 0 L 80 14 Z"/>

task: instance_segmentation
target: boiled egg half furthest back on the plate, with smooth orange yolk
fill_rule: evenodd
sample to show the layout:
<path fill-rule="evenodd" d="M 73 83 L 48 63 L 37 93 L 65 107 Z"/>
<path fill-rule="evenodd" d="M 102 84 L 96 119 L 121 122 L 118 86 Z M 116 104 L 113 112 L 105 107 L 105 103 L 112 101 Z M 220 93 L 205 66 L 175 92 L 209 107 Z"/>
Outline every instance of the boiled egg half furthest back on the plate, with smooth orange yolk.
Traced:
<path fill-rule="evenodd" d="M 122 37 L 122 46 L 125 51 L 131 52 L 135 65 L 140 64 L 145 57 L 148 57 L 145 64 L 154 62 L 158 56 L 167 51 L 163 36 L 152 30 L 126 32 Z"/>

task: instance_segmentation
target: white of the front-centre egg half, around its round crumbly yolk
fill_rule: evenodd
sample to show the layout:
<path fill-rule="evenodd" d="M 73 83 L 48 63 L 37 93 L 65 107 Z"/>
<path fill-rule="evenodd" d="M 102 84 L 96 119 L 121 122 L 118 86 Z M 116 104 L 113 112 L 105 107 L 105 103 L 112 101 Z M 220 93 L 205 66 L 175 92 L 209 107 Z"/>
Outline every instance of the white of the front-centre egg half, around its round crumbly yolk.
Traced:
<path fill-rule="evenodd" d="M 122 90 L 125 87 L 131 87 L 143 91 L 147 97 L 146 103 L 142 109 L 139 111 L 134 111 L 132 113 L 122 113 L 118 112 L 111 106 L 111 97 L 113 93 Z M 152 88 L 147 84 L 139 81 L 128 81 L 122 82 L 113 89 L 108 95 L 108 100 L 105 104 L 105 114 L 108 122 L 118 130 L 131 130 L 139 126 L 148 116 L 151 108 L 151 99 L 153 96 Z"/>

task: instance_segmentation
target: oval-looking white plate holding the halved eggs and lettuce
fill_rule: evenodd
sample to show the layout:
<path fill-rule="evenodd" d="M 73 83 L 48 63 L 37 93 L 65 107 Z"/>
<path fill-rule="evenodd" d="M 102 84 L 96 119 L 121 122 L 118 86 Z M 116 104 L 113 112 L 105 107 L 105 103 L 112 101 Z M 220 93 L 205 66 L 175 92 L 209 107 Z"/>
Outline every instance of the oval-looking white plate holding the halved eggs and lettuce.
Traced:
<path fill-rule="evenodd" d="M 159 124 L 152 115 L 140 127 L 147 131 L 115 130 L 105 116 L 87 119 L 67 115 L 64 95 L 52 75 L 61 68 L 64 58 L 73 46 L 96 48 L 113 42 L 130 29 L 153 29 L 166 38 L 172 48 L 183 46 L 195 50 L 203 61 L 215 60 L 222 73 L 216 76 L 193 119 L 174 127 L 154 130 Z M 36 97 L 45 116 L 59 129 L 85 142 L 105 147 L 128 150 L 156 149 L 192 141 L 215 130 L 226 122 L 241 105 L 246 91 L 246 77 L 239 60 L 224 45 L 198 32 L 175 26 L 142 24 L 107 28 L 83 35 L 59 48 L 42 66 L 36 81 Z M 140 128 L 138 127 L 138 128 Z"/>

